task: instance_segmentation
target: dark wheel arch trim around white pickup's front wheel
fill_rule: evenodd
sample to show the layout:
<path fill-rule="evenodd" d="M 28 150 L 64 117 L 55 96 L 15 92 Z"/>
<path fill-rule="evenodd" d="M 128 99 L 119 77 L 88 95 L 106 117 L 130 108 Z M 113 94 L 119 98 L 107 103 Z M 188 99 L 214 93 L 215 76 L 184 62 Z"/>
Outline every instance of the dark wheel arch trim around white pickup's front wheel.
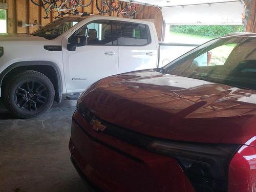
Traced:
<path fill-rule="evenodd" d="M 53 83 L 55 90 L 54 100 L 58 103 L 62 98 L 62 79 L 61 73 L 56 63 L 51 61 L 20 61 L 15 62 L 8 66 L 0 74 L 0 87 L 3 87 L 5 82 L 14 73 L 18 73 L 20 70 L 34 70 L 46 75 Z M 5 88 L 4 88 L 5 89 Z"/>

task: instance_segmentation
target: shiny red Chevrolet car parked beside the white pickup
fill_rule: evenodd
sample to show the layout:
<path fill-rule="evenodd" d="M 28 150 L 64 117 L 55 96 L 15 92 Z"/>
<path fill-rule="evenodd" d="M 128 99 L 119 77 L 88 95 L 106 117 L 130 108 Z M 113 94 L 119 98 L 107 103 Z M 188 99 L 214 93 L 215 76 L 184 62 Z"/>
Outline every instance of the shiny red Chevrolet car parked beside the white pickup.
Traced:
<path fill-rule="evenodd" d="M 69 148 L 104 191 L 255 191 L 256 34 L 97 81 L 78 99 Z"/>

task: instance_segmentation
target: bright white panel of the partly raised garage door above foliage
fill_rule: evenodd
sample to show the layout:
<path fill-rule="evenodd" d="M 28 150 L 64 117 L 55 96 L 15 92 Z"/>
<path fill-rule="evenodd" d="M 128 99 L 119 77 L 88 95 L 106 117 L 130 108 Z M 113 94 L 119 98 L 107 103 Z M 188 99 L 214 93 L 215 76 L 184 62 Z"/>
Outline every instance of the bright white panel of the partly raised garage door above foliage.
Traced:
<path fill-rule="evenodd" d="M 162 8 L 169 25 L 242 25 L 244 10 L 241 2 Z"/>

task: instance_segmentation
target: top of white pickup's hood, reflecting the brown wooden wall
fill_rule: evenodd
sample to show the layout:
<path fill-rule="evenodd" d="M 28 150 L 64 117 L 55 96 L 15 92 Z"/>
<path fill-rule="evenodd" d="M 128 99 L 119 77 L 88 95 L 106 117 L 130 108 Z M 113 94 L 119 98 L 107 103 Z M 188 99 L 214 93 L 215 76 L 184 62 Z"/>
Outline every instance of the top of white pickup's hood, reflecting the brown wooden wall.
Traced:
<path fill-rule="evenodd" d="M 16 34 L 7 34 L 1 35 L 0 41 L 42 41 L 47 40 L 44 37 L 33 36 L 26 33 L 16 33 Z"/>

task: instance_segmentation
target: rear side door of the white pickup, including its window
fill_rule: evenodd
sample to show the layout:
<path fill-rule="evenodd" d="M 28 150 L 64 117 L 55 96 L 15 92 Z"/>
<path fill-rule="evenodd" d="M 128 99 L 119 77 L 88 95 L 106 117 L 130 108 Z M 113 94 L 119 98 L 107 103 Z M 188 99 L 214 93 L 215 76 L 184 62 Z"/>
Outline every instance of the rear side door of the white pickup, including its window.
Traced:
<path fill-rule="evenodd" d="M 158 41 L 151 28 L 146 24 L 116 22 L 118 73 L 157 68 Z"/>

